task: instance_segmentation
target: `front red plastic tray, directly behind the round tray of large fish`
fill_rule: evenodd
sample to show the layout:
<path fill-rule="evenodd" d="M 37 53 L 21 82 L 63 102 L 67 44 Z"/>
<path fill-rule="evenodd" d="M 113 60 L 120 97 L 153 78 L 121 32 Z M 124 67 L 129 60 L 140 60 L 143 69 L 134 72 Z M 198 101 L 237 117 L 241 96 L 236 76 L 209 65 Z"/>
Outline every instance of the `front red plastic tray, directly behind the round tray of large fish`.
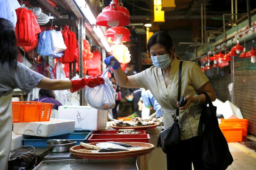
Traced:
<path fill-rule="evenodd" d="M 88 141 L 91 142 L 144 142 L 148 143 L 149 134 L 91 134 Z"/>

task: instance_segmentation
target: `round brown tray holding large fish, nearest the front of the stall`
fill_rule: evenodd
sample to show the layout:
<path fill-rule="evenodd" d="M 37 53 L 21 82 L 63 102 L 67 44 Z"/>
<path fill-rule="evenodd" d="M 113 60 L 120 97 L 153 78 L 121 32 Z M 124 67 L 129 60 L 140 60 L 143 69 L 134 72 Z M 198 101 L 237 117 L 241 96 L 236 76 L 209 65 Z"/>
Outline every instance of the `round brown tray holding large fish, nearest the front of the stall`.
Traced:
<path fill-rule="evenodd" d="M 98 142 L 89 143 L 91 145 L 96 145 Z M 74 156 L 78 158 L 85 158 L 85 159 L 122 159 L 122 158 L 130 158 L 130 157 L 137 157 L 142 156 L 145 154 L 150 153 L 155 146 L 149 143 L 143 142 L 122 142 L 125 144 L 129 144 L 132 146 L 141 146 L 143 148 L 139 150 L 131 150 L 131 151 L 119 151 L 119 152 L 97 152 L 97 150 L 92 150 L 92 152 L 83 152 L 77 151 L 79 149 L 83 149 L 85 147 L 81 145 L 72 146 L 69 151 Z"/>

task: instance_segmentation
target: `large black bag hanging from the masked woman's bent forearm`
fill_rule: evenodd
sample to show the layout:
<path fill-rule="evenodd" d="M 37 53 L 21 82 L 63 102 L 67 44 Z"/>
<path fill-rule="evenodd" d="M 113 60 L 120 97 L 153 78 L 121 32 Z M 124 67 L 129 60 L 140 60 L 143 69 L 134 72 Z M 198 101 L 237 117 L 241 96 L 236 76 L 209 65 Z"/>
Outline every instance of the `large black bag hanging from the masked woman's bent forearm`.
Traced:
<path fill-rule="evenodd" d="M 203 140 L 203 163 L 206 169 L 227 169 L 233 162 L 227 140 L 222 134 L 216 116 L 216 107 L 213 105 L 207 93 L 206 103 L 201 105 L 203 110 L 198 126 L 198 136 Z"/>

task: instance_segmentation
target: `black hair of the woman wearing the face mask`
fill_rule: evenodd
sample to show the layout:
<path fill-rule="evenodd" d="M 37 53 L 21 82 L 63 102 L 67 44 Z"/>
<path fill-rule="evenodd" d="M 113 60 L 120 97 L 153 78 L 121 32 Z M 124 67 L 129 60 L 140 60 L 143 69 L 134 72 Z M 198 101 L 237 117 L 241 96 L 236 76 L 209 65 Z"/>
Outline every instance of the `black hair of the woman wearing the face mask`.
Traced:
<path fill-rule="evenodd" d="M 169 54 L 171 53 L 171 49 L 174 46 L 172 37 L 167 32 L 164 32 L 164 31 L 155 32 L 149 38 L 148 44 L 147 44 L 147 50 L 150 52 L 150 48 L 155 44 L 160 44 L 160 45 L 165 46 L 165 48 Z M 175 52 L 175 51 L 173 51 L 173 52 Z"/>

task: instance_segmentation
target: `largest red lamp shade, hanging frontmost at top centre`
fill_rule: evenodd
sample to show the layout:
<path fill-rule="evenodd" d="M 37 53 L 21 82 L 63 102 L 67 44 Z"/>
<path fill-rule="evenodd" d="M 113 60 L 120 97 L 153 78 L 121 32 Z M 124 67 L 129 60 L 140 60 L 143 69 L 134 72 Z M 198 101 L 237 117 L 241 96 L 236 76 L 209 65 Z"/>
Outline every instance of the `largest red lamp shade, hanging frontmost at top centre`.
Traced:
<path fill-rule="evenodd" d="M 96 24 L 101 26 L 126 26 L 130 24 L 129 17 L 118 11 L 117 5 L 111 1 L 108 10 L 101 12 L 96 18 Z"/>

